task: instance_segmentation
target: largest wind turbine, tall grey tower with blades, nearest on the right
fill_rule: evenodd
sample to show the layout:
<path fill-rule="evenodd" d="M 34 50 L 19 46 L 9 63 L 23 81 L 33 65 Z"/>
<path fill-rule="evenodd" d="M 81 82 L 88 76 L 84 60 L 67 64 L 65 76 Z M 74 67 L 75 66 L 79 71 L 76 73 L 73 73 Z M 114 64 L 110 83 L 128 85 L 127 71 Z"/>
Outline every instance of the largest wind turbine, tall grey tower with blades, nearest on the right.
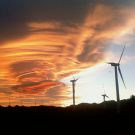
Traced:
<path fill-rule="evenodd" d="M 119 71 L 120 77 L 122 79 L 122 82 L 123 82 L 123 84 L 124 84 L 124 86 L 126 88 L 125 81 L 124 81 L 124 78 L 123 78 L 123 75 L 122 75 L 122 72 L 121 72 L 121 69 L 120 69 L 120 62 L 121 62 L 121 59 L 122 59 L 124 50 L 125 50 L 125 46 L 124 46 L 124 48 L 122 50 L 122 53 L 120 55 L 120 59 L 119 59 L 118 63 L 114 63 L 114 62 L 107 63 L 107 64 L 110 64 L 111 66 L 114 67 L 114 71 L 115 71 L 115 83 L 116 83 L 116 97 L 117 97 L 117 102 L 118 103 L 120 101 L 119 82 L 118 82 L 118 71 Z"/>

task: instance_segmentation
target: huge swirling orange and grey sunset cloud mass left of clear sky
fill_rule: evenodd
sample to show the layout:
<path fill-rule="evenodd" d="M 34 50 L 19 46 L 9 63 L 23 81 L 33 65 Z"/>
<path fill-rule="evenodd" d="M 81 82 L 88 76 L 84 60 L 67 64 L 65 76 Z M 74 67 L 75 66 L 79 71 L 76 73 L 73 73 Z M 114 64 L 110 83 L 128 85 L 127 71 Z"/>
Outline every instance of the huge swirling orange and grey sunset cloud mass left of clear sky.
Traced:
<path fill-rule="evenodd" d="M 0 82 L 15 84 L 8 87 L 16 95 L 64 100 L 60 80 L 102 61 L 107 43 L 134 29 L 133 7 L 130 0 L 1 0 Z"/>

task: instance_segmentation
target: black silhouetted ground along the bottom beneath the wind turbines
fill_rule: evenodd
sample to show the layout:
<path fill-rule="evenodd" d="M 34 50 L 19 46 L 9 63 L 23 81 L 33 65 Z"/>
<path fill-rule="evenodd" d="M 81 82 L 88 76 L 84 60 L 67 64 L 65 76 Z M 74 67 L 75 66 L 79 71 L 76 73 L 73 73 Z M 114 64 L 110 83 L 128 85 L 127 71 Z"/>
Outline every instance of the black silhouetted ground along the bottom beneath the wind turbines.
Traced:
<path fill-rule="evenodd" d="M 1 128 L 37 134 L 135 135 L 135 98 L 117 104 L 79 104 L 62 107 L 0 107 Z M 27 134 L 27 133 L 26 133 Z"/>

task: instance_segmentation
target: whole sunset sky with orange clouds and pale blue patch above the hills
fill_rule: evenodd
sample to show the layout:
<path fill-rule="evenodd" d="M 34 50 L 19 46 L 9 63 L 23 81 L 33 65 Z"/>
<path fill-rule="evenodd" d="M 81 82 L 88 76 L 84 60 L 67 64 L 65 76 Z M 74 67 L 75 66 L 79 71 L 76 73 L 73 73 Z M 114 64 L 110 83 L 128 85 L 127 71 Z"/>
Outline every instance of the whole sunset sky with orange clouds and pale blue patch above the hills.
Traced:
<path fill-rule="evenodd" d="M 134 0 L 1 0 L 0 104 L 100 103 L 116 100 L 114 69 L 126 49 L 120 97 L 135 94 Z"/>

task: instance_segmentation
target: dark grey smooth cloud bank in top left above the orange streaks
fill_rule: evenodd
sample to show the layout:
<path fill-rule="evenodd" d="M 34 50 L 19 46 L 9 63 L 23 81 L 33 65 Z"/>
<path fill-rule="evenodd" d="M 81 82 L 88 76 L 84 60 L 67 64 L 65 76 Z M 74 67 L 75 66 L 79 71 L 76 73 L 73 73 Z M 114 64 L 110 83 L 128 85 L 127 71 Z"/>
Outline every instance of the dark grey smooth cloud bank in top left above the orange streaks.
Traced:
<path fill-rule="evenodd" d="M 0 41 L 26 37 L 31 33 L 29 22 L 58 21 L 65 25 L 81 22 L 88 5 L 88 0 L 1 0 Z"/>

